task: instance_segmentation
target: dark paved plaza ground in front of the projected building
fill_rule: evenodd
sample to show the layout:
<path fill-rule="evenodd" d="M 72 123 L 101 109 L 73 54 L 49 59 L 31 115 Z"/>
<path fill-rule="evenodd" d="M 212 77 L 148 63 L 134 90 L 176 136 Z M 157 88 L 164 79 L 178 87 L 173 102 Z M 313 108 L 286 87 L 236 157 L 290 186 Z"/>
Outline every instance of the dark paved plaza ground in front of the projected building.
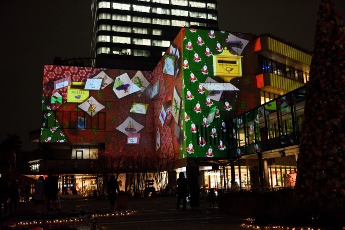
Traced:
<path fill-rule="evenodd" d="M 197 210 L 191 209 L 187 202 L 187 210 L 176 209 L 176 197 L 128 199 L 128 215 L 97 217 L 99 229 L 244 229 L 240 224 L 247 222 L 248 216 L 219 213 L 217 204 L 210 209 L 210 204 L 200 200 Z M 110 211 L 109 200 L 103 199 L 64 199 L 61 200 L 61 211 L 43 214 L 34 213 L 33 202 L 20 203 L 16 217 L 18 221 L 27 223 L 43 220 L 68 220 L 84 218 L 88 214 L 107 214 Z M 115 214 L 118 211 L 114 212 Z M 120 212 L 121 213 L 121 212 Z M 71 221 L 68 226 L 87 224 L 87 218 L 81 222 Z M 28 226 L 17 225 L 17 229 L 29 229 Z M 23 228 L 26 227 L 26 228 Z M 58 228 L 55 228 L 58 229 Z M 87 229 L 87 228 L 85 228 Z"/>

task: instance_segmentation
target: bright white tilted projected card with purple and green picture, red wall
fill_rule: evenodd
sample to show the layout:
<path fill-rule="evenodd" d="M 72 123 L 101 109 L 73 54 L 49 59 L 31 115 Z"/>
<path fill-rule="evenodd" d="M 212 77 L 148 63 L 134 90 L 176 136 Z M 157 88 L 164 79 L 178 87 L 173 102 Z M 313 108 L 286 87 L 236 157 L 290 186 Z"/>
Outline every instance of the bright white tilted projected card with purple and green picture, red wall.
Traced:
<path fill-rule="evenodd" d="M 140 91 L 140 88 L 129 79 L 127 73 L 117 76 L 114 82 L 113 90 L 118 98 Z"/>

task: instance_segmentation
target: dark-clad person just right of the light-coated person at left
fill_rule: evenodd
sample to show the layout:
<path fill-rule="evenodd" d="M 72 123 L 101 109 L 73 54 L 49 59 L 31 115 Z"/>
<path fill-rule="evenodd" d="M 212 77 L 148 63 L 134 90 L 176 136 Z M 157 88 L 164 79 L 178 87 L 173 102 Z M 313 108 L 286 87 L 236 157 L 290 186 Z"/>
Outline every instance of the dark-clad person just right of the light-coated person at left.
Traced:
<path fill-rule="evenodd" d="M 55 210 L 58 201 L 58 178 L 52 172 L 44 180 L 44 191 L 47 199 L 47 211 Z"/>

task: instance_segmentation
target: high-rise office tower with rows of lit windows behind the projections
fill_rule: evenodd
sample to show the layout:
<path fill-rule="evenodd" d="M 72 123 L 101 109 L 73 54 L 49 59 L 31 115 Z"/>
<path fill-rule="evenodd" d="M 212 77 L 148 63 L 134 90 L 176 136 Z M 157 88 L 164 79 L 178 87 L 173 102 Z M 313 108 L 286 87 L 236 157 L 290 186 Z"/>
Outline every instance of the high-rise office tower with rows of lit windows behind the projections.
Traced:
<path fill-rule="evenodd" d="M 94 66 L 153 70 L 181 27 L 217 29 L 217 0 L 93 0 Z"/>

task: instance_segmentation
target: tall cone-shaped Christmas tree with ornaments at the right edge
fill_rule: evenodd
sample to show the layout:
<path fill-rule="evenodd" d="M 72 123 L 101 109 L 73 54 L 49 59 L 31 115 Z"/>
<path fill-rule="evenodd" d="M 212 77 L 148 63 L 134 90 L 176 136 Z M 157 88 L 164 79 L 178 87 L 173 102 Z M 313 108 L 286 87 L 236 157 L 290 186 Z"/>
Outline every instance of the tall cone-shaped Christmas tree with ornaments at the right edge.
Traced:
<path fill-rule="evenodd" d="M 324 211 L 343 210 L 345 204 L 344 28 L 333 2 L 323 0 L 306 90 L 296 190 Z"/>

